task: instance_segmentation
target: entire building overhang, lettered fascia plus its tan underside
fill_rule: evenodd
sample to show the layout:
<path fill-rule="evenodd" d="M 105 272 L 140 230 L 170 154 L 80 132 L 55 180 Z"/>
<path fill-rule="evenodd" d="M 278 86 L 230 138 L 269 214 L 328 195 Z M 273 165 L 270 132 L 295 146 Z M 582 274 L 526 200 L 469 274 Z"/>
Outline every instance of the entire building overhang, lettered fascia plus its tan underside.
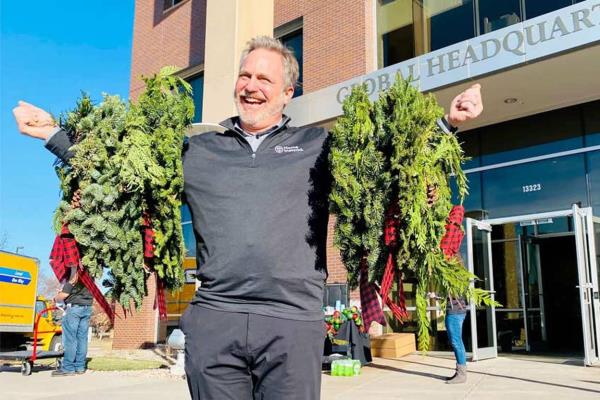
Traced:
<path fill-rule="evenodd" d="M 475 82 L 484 112 L 468 130 L 600 99 L 600 1 L 584 1 L 297 97 L 286 114 L 294 125 L 315 125 L 342 114 L 353 86 L 371 99 L 409 78 L 440 105 Z"/>

